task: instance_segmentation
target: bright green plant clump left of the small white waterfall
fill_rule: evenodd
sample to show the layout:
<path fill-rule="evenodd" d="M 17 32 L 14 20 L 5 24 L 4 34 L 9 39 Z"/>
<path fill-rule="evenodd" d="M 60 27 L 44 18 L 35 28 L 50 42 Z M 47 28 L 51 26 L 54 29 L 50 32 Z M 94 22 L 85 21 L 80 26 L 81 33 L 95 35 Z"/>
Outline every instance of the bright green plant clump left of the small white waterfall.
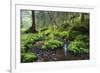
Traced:
<path fill-rule="evenodd" d="M 51 39 L 51 40 L 45 41 L 41 49 L 55 49 L 55 48 L 61 47 L 62 45 L 63 45 L 63 42 Z"/>

